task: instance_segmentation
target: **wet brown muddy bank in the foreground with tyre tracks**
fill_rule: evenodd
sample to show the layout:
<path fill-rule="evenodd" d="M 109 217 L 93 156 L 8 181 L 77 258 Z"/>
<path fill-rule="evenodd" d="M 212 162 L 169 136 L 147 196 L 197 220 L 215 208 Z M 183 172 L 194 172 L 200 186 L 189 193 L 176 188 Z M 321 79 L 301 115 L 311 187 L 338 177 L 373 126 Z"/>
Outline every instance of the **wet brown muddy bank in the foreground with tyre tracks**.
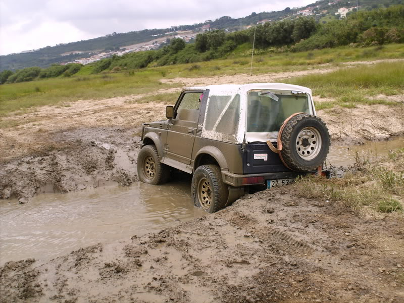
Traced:
<path fill-rule="evenodd" d="M 402 302 L 404 219 L 294 187 L 47 263 L 0 268 L 3 302 Z"/>

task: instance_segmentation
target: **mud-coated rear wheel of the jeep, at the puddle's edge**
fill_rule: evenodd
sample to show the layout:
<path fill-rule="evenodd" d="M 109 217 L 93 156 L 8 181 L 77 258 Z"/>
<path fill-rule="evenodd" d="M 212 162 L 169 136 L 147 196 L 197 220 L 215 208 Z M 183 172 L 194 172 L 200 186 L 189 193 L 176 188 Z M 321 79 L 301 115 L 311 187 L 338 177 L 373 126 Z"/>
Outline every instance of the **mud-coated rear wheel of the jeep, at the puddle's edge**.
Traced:
<path fill-rule="evenodd" d="M 193 204 L 208 213 L 215 213 L 226 206 L 228 185 L 222 180 L 217 165 L 201 165 L 192 176 L 191 194 Z"/>

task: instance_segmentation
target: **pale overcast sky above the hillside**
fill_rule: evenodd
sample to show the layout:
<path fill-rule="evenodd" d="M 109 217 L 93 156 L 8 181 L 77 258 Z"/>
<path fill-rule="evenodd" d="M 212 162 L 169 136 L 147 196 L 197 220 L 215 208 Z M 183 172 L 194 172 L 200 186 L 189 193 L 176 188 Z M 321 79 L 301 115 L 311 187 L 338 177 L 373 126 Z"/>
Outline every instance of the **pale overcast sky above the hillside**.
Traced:
<path fill-rule="evenodd" d="M 96 38 L 280 11 L 316 0 L 1 0 L 0 55 Z"/>

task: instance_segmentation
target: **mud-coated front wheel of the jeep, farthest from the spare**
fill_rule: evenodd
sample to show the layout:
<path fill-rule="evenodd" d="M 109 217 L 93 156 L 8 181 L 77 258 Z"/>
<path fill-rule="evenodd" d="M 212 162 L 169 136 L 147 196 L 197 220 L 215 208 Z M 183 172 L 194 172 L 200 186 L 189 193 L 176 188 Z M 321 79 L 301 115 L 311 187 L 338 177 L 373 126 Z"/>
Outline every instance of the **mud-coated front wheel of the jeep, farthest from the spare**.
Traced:
<path fill-rule="evenodd" d="M 139 180 L 147 184 L 163 184 L 170 176 L 169 167 L 159 160 L 155 145 L 145 145 L 137 156 L 137 175 Z"/>

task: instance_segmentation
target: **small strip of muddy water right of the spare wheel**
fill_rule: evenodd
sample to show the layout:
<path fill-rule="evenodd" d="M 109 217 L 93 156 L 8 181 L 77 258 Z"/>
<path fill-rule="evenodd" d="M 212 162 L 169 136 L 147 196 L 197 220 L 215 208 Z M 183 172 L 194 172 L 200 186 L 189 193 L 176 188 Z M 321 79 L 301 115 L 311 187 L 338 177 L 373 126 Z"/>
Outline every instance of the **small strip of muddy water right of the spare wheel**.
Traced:
<path fill-rule="evenodd" d="M 361 159 L 375 159 L 386 156 L 389 150 L 404 147 L 404 137 L 393 138 L 388 141 L 367 142 L 363 145 L 332 144 L 327 157 L 327 164 L 335 167 L 347 167 L 355 163 L 356 153 Z"/>

